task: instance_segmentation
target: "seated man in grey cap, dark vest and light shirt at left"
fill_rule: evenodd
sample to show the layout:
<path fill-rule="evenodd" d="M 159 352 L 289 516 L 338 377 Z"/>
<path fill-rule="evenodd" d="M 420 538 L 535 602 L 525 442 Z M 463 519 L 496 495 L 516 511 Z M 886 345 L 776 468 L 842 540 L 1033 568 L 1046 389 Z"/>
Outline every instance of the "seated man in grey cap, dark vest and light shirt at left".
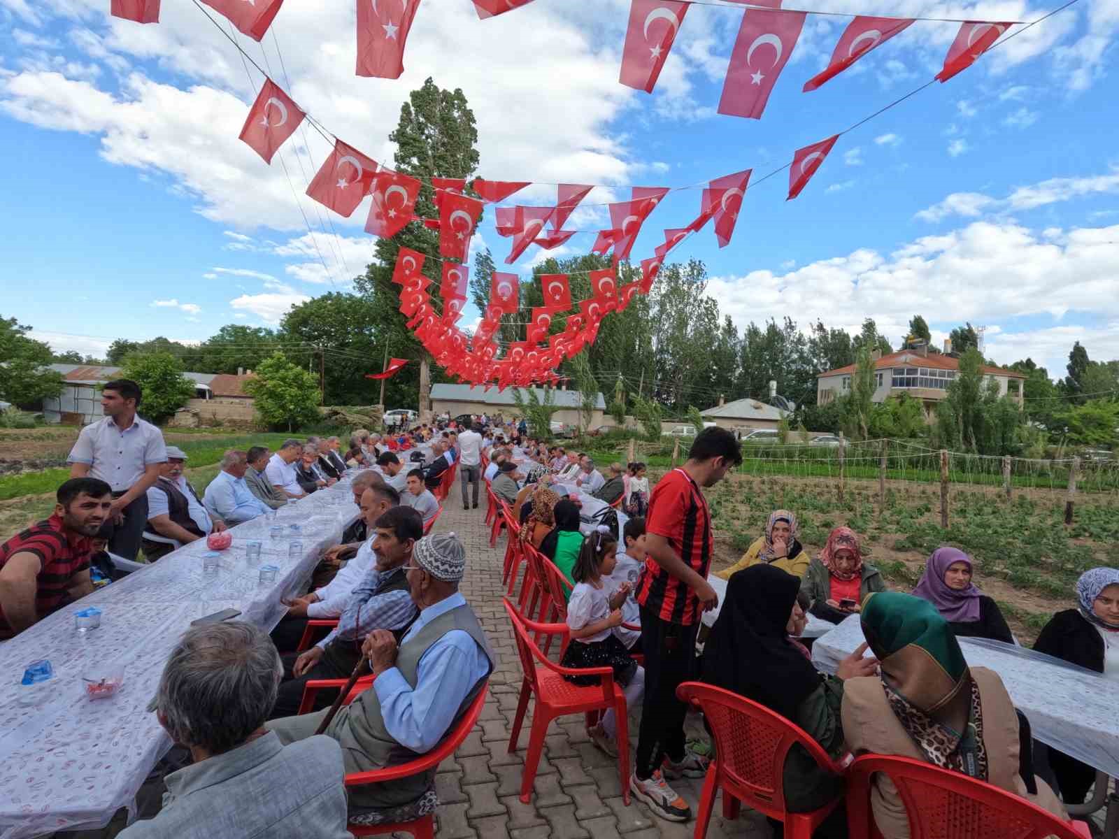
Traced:
<path fill-rule="evenodd" d="M 225 522 L 210 517 L 195 488 L 182 477 L 186 461 L 186 452 L 167 446 L 167 462 L 160 464 L 159 480 L 148 488 L 148 526 L 141 543 L 148 562 L 225 530 Z"/>

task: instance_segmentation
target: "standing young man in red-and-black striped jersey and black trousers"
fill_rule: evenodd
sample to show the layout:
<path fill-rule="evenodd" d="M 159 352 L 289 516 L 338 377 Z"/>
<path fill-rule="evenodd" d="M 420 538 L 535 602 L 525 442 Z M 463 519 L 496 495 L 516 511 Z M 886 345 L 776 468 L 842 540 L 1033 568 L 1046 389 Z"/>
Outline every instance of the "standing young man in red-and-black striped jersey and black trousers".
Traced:
<path fill-rule="evenodd" d="M 693 678 L 699 616 L 718 603 L 707 583 L 711 510 L 700 487 L 714 487 L 742 463 L 725 428 L 704 428 L 679 469 L 649 497 L 647 557 L 633 593 L 641 611 L 645 699 L 630 791 L 662 819 L 687 821 L 692 810 L 665 777 L 702 777 L 707 761 L 684 745 L 687 707 L 676 688 Z"/>

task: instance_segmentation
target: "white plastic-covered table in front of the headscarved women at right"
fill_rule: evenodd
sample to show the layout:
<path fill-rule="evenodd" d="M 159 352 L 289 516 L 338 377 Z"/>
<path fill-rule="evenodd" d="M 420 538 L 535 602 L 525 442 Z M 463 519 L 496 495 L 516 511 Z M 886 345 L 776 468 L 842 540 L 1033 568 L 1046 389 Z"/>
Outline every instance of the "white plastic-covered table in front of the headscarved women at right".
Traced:
<path fill-rule="evenodd" d="M 816 640 L 812 661 L 834 673 L 864 640 L 858 615 L 852 615 Z M 999 675 L 1015 707 L 1029 718 L 1034 737 L 1119 776 L 1119 690 L 1113 680 L 1000 641 L 961 638 L 960 649 L 968 664 Z"/>

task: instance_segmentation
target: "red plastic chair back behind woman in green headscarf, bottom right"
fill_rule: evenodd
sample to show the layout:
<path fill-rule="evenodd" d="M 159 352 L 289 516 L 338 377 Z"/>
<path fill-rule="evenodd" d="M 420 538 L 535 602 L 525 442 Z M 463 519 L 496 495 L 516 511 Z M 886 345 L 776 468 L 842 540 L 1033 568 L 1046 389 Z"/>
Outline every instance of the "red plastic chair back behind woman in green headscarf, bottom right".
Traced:
<path fill-rule="evenodd" d="M 1087 839 L 1088 826 L 1066 822 L 985 781 L 923 761 L 868 754 L 847 769 L 847 826 L 852 839 L 881 839 L 871 816 L 871 776 L 897 788 L 911 839 Z"/>

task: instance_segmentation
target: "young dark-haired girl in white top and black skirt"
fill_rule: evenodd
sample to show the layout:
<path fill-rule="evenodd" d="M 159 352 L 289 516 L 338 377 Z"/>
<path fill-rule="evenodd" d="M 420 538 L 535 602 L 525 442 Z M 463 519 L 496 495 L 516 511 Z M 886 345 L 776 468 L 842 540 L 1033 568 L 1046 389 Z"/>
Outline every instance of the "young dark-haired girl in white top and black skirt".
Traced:
<path fill-rule="evenodd" d="M 630 657 L 629 650 L 618 640 L 613 630 L 622 622 L 621 605 L 630 593 L 630 584 L 623 583 L 608 596 L 606 579 L 615 565 L 618 540 L 604 526 L 583 540 L 583 548 L 572 568 L 575 588 L 567 601 L 567 626 L 571 643 L 564 652 L 564 667 L 591 668 L 609 667 L 614 671 L 614 681 L 622 686 L 626 706 L 632 708 L 641 701 L 645 691 L 645 669 Z M 598 676 L 565 676 L 575 685 L 598 685 Z M 615 745 L 618 722 L 611 708 L 602 722 L 587 734 L 591 742 L 611 757 L 618 756 Z"/>

